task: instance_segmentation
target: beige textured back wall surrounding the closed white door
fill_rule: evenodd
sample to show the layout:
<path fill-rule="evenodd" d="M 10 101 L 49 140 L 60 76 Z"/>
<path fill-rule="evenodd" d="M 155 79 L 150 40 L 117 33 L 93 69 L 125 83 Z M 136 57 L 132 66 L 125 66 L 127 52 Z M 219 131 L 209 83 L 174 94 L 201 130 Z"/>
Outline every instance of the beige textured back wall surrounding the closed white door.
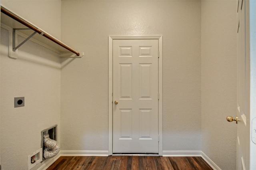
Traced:
<path fill-rule="evenodd" d="M 163 150 L 201 150 L 200 1 L 64 0 L 61 17 L 85 52 L 61 72 L 62 150 L 108 150 L 110 35 L 163 36 Z"/>

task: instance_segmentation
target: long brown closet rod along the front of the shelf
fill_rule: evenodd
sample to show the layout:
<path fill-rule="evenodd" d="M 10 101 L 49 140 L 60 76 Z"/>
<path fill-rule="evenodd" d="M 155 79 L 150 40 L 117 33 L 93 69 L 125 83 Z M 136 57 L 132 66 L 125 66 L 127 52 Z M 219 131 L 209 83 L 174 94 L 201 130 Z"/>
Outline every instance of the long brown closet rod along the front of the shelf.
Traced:
<path fill-rule="evenodd" d="M 26 22 L 25 20 L 23 20 L 22 18 L 20 18 L 19 16 L 15 15 L 14 13 L 10 12 L 9 10 L 7 10 L 6 8 L 1 6 L 1 12 L 6 14 L 7 16 L 13 18 L 14 20 L 20 22 L 21 24 L 23 24 L 24 26 L 30 28 L 31 30 L 34 30 L 35 32 L 37 32 L 38 34 L 48 38 L 49 40 L 51 40 L 52 42 L 57 43 L 58 45 L 68 49 L 69 51 L 71 51 L 72 53 L 75 53 L 77 56 L 80 55 L 80 53 L 76 52 L 74 49 L 68 47 L 67 45 L 65 45 L 64 43 L 60 42 L 59 40 L 56 40 L 55 38 L 53 38 L 52 36 L 48 35 L 45 32 L 42 32 L 39 28 L 36 28 L 35 26 L 33 26 L 32 24 Z"/>

